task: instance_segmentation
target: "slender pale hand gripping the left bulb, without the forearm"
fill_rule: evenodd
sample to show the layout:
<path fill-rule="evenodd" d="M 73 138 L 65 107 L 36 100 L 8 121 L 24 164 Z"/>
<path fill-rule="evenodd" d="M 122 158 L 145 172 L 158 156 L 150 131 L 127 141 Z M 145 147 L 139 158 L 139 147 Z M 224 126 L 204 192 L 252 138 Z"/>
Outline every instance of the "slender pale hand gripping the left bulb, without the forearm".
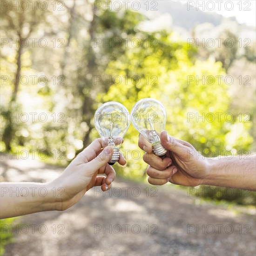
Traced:
<path fill-rule="evenodd" d="M 51 186 L 65 189 L 62 204 L 59 205 L 60 209 L 67 209 L 74 205 L 88 189 L 101 186 L 103 191 L 107 191 L 111 188 L 115 179 L 115 170 L 108 161 L 113 154 L 113 148 L 108 146 L 103 151 L 101 148 L 101 139 L 93 141 L 77 155 L 61 176 L 51 182 Z M 121 165 L 126 163 L 122 154 L 120 154 L 119 163 Z M 97 176 L 99 174 L 107 176 Z"/>

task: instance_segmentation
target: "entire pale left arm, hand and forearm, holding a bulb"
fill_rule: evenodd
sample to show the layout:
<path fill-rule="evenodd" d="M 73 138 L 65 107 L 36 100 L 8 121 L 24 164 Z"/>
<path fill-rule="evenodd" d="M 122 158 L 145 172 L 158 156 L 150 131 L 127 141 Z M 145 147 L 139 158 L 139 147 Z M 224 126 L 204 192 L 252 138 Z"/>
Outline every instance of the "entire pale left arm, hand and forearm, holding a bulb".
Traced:
<path fill-rule="evenodd" d="M 65 210 L 77 203 L 94 186 L 101 186 L 103 191 L 110 189 L 115 179 L 115 170 L 108 164 L 113 148 L 101 148 L 101 139 L 93 141 L 52 182 L 1 182 L 0 218 Z M 119 163 L 126 163 L 122 154 Z"/>

